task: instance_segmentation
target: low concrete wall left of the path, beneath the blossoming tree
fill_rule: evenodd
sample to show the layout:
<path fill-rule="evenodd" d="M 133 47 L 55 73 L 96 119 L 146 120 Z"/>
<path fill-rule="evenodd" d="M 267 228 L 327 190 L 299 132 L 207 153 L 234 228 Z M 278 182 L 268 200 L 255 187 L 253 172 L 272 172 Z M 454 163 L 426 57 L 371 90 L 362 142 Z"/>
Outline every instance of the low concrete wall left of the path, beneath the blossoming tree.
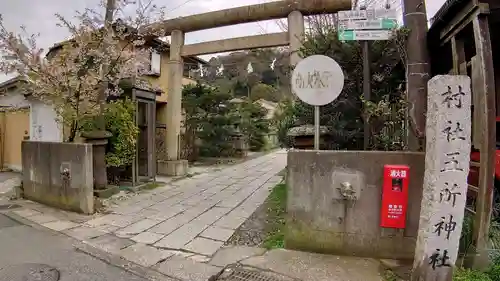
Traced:
<path fill-rule="evenodd" d="M 24 197 L 85 214 L 94 212 L 92 145 L 22 143 Z"/>

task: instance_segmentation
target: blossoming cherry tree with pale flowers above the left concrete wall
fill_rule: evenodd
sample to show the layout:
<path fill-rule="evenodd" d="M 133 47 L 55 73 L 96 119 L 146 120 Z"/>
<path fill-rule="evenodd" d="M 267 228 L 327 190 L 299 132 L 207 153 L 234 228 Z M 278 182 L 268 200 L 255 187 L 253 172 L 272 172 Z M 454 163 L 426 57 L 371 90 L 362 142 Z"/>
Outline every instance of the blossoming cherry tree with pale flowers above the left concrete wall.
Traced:
<path fill-rule="evenodd" d="M 72 19 L 56 14 L 57 26 L 67 30 L 70 39 L 47 55 L 38 44 L 41 34 L 30 34 L 24 26 L 19 32 L 9 30 L 0 15 L 0 71 L 19 75 L 25 94 L 54 107 L 58 121 L 70 130 L 70 142 L 82 129 L 82 120 L 99 115 L 102 85 L 106 97 L 122 94 L 124 81 L 148 86 L 141 79 L 150 63 L 145 43 L 163 34 L 139 30 L 164 19 L 164 9 L 153 0 L 115 1 L 111 25 L 105 25 L 102 15 L 105 1 L 96 9 L 76 12 Z"/>

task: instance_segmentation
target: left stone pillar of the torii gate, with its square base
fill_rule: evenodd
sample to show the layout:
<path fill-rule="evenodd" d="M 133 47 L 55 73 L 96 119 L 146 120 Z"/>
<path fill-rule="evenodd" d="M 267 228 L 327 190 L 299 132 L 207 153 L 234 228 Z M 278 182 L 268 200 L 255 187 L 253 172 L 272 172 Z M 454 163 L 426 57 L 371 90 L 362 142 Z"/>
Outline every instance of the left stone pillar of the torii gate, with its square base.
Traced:
<path fill-rule="evenodd" d="M 159 165 L 159 173 L 181 176 L 187 172 L 187 160 L 180 159 L 180 131 L 182 120 L 182 74 L 184 70 L 181 51 L 184 32 L 174 30 L 171 34 L 170 61 L 167 92 L 167 161 Z"/>

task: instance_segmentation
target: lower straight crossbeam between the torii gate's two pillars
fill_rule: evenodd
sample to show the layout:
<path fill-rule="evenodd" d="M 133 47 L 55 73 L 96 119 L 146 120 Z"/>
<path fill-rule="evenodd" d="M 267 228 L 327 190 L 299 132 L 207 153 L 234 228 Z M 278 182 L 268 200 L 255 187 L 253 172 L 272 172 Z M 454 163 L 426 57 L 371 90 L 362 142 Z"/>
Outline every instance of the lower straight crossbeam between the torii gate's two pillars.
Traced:
<path fill-rule="evenodd" d="M 182 47 L 182 56 L 198 56 L 245 49 L 285 46 L 290 43 L 288 32 L 271 33 L 203 42 Z"/>

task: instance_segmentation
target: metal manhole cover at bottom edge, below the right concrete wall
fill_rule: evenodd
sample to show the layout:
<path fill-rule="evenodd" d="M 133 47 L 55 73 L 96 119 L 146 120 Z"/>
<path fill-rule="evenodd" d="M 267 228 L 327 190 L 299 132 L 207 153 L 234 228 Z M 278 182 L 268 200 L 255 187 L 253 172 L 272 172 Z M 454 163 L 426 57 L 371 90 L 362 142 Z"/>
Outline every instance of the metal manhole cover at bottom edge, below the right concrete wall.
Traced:
<path fill-rule="evenodd" d="M 217 281 L 297 281 L 275 272 L 261 271 L 247 267 L 228 267 L 220 274 Z M 215 281 L 214 280 L 214 281 Z"/>

